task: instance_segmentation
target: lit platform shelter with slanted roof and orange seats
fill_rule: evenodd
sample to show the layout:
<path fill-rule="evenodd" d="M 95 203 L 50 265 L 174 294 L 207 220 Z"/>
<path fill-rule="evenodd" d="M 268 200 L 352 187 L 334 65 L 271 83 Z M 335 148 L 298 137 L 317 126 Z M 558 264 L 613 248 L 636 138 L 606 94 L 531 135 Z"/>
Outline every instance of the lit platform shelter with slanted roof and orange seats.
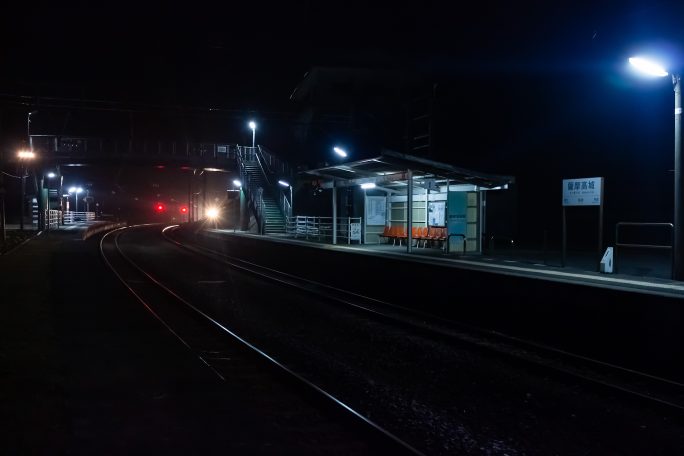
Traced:
<path fill-rule="evenodd" d="M 362 215 L 343 225 L 346 239 L 363 244 L 439 247 L 453 253 L 481 253 L 486 194 L 505 190 L 515 179 L 481 173 L 422 157 L 383 150 L 381 155 L 303 171 L 332 193 L 332 243 L 338 243 L 339 193 L 360 192 Z M 409 209 L 410 208 L 410 209 Z M 354 226 L 358 225 L 358 226 Z"/>

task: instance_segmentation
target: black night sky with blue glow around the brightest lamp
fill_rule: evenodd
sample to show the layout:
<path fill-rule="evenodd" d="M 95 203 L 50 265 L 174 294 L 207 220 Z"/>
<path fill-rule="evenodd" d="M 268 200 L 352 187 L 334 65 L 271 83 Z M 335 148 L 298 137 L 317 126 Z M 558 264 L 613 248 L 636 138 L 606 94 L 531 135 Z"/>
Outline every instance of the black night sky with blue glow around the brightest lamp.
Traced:
<path fill-rule="evenodd" d="M 564 177 L 606 177 L 609 226 L 671 221 L 672 86 L 626 59 L 681 68 L 681 2 L 25 3 L 0 19 L 3 94 L 226 108 L 242 143 L 251 111 L 280 145 L 269 122 L 312 67 L 393 69 L 438 84 L 433 157 L 515 175 L 535 230 L 559 229 Z M 0 134 L 18 125 L 6 113 Z"/>

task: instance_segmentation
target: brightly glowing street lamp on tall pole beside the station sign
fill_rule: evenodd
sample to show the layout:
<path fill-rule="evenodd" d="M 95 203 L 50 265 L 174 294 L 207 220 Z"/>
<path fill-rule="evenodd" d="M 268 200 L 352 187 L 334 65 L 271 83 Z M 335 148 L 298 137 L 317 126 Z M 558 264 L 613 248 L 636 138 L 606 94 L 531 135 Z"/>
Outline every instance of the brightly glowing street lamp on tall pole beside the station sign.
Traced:
<path fill-rule="evenodd" d="M 668 72 L 659 64 L 641 57 L 631 57 L 629 63 L 648 76 L 665 77 Z M 675 180 L 674 180 L 674 245 L 672 246 L 673 277 L 682 280 L 682 90 L 679 73 L 672 73 L 675 93 Z"/>

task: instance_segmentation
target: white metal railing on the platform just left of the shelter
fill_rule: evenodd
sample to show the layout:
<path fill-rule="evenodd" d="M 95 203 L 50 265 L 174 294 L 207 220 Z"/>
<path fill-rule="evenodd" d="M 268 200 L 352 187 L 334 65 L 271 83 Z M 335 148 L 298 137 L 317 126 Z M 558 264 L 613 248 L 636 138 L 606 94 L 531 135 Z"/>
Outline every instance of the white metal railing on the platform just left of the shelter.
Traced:
<path fill-rule="evenodd" d="M 295 238 L 315 239 L 322 242 L 332 242 L 333 218 L 297 215 L 287 217 L 286 233 Z M 359 232 L 359 239 L 352 239 L 352 224 L 358 223 L 363 226 L 363 217 L 338 217 L 337 219 L 337 242 L 351 244 L 362 242 L 363 236 Z"/>

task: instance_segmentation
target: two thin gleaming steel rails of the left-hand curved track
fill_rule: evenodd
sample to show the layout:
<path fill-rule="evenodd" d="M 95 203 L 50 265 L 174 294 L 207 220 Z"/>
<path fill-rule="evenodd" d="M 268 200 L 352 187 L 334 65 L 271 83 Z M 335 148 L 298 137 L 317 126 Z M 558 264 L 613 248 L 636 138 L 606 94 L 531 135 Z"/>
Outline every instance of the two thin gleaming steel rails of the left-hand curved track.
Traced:
<path fill-rule="evenodd" d="M 382 438 L 387 439 L 390 443 L 392 443 L 393 445 L 396 445 L 396 446 L 398 447 L 398 449 L 400 449 L 400 450 L 407 451 L 408 453 L 414 454 L 414 455 L 421 455 L 421 456 L 424 455 L 424 453 L 422 453 L 422 452 L 421 452 L 420 450 L 418 450 L 417 448 L 415 448 L 415 447 L 413 447 L 412 445 L 410 445 L 409 443 L 403 441 L 402 439 L 400 439 L 399 437 L 397 437 L 396 435 L 394 435 L 393 433 L 391 433 L 391 432 L 388 431 L 387 429 L 381 427 L 380 425 L 378 425 L 378 424 L 375 423 L 374 421 L 368 419 L 367 417 L 365 417 L 364 415 L 362 415 L 360 412 L 356 411 L 354 408 L 352 408 L 351 406 L 347 405 L 347 404 L 346 404 L 345 402 L 343 402 L 342 400 L 336 398 L 333 394 L 327 392 L 326 390 L 324 390 L 324 389 L 321 388 L 320 386 L 318 386 L 318 385 L 316 385 L 315 383 L 311 382 L 310 380 L 308 380 L 307 378 L 305 378 L 305 377 L 302 376 L 301 374 L 298 374 L 297 372 L 295 372 L 295 371 L 292 370 L 291 368 L 287 367 L 285 364 L 283 364 L 283 363 L 281 363 L 280 361 L 276 360 L 274 357 L 272 357 L 272 356 L 269 355 L 268 353 L 264 352 L 263 350 L 261 350 L 260 348 L 258 348 L 257 346 L 255 346 L 254 344 L 250 343 L 249 341 L 247 341 L 246 339 L 244 339 L 243 337 L 241 337 L 240 335 L 238 335 L 237 333 L 235 333 L 234 331 L 232 331 L 231 329 L 229 329 L 227 326 L 225 326 L 225 325 L 222 324 L 221 322 L 217 321 L 216 319 L 214 319 L 213 317 L 211 317 L 210 315 L 208 315 L 206 312 L 202 311 L 202 310 L 199 309 L 197 306 L 195 306 L 195 305 L 193 305 L 192 303 L 190 303 L 189 301 L 187 301 L 185 298 L 183 298 L 183 297 L 181 297 L 180 295 L 178 295 L 176 292 L 174 292 L 174 291 L 171 290 L 169 287 L 167 287 L 166 285 L 164 285 L 164 284 L 163 284 L 161 281 L 159 281 L 157 278 L 155 278 L 154 276 L 152 276 L 149 272 L 145 271 L 142 267 L 140 267 L 140 265 L 138 265 L 136 262 L 134 262 L 128 255 L 126 255 L 126 254 L 123 252 L 123 250 L 122 250 L 121 247 L 119 246 L 118 238 L 119 238 L 119 235 L 123 232 L 123 230 L 127 230 L 127 229 L 130 229 L 130 228 L 141 227 L 141 226 L 149 226 L 149 225 L 133 225 L 133 226 L 123 227 L 123 228 L 119 228 L 119 229 L 117 229 L 117 230 L 108 232 L 108 233 L 105 234 L 105 235 L 102 237 L 102 239 L 100 240 L 100 253 L 102 254 L 102 256 L 103 256 L 105 262 L 106 262 L 107 265 L 110 267 L 110 269 L 112 270 L 112 272 L 113 272 L 113 273 L 116 275 L 116 277 L 124 284 L 124 286 L 125 286 L 125 287 L 126 287 L 126 288 L 127 288 L 127 289 L 128 289 L 128 290 L 129 290 L 137 299 L 138 299 L 138 301 L 140 301 L 140 302 L 147 308 L 147 310 L 150 311 L 150 313 L 152 313 L 152 315 L 153 315 L 157 320 L 159 320 L 159 321 L 160 321 L 160 322 L 161 322 L 161 323 L 162 323 L 162 324 L 163 324 L 163 325 L 164 325 L 164 326 L 165 326 L 165 327 L 166 327 L 166 328 L 167 328 L 167 329 L 176 337 L 176 338 L 178 338 L 178 339 L 181 341 L 181 343 L 182 343 L 183 345 L 185 345 L 185 346 L 188 347 L 190 350 L 192 350 L 193 352 L 195 352 L 195 351 L 193 350 L 192 346 L 191 346 L 187 341 L 185 341 L 185 340 L 184 340 L 176 331 L 174 331 L 173 328 L 172 328 L 166 321 L 164 321 L 164 319 L 163 319 L 158 313 L 156 313 L 156 312 L 151 308 L 151 306 L 144 300 L 144 298 L 142 298 L 142 297 L 140 296 L 139 293 L 135 292 L 135 291 L 133 290 L 133 288 L 132 288 L 128 283 L 126 283 L 125 279 L 121 276 L 121 274 L 119 274 L 119 273 L 116 271 L 116 269 L 113 267 L 113 265 L 111 264 L 111 262 L 107 259 L 106 255 L 105 255 L 105 253 L 104 253 L 104 250 L 103 250 L 103 242 L 104 242 L 104 239 L 105 239 L 106 237 L 108 237 L 110 234 L 116 232 L 115 237 L 114 237 L 114 245 L 115 245 L 116 250 L 117 250 L 117 252 L 119 253 L 119 255 L 120 255 L 120 256 L 121 256 L 121 257 L 122 257 L 122 258 L 131 266 L 131 267 L 133 267 L 133 268 L 134 268 L 135 270 L 137 270 L 140 274 L 142 274 L 144 277 L 146 277 L 151 283 L 153 283 L 153 284 L 156 285 L 158 288 L 160 288 L 161 290 L 163 290 L 166 294 L 168 294 L 169 296 L 173 297 L 173 298 L 174 298 L 175 300 L 177 300 L 178 302 L 180 302 L 180 303 L 182 303 L 183 305 L 185 305 L 188 309 L 192 310 L 192 311 L 195 312 L 197 315 L 201 316 L 205 321 L 211 323 L 211 325 L 213 325 L 215 328 L 217 328 L 217 329 L 221 330 L 223 333 L 225 333 L 225 334 L 231 336 L 231 337 L 232 337 L 235 341 L 237 341 L 242 347 L 245 347 L 245 348 L 249 349 L 249 351 L 250 351 L 251 353 L 257 355 L 257 356 L 258 356 L 259 358 L 261 358 L 262 360 L 267 361 L 271 366 L 275 367 L 281 374 L 285 374 L 285 375 L 286 375 L 287 377 L 289 377 L 291 380 L 294 380 L 294 381 L 297 382 L 298 384 L 304 386 L 309 392 L 314 393 L 314 394 L 315 394 L 317 397 L 319 397 L 320 399 L 324 399 L 329 405 L 333 405 L 333 406 L 338 407 L 338 409 L 342 409 L 344 412 L 346 412 L 347 416 L 349 416 L 349 417 L 351 417 L 351 418 L 357 420 L 357 424 L 362 424 L 362 425 L 366 426 L 367 428 L 370 428 L 370 429 L 373 430 L 374 432 L 378 433 L 378 435 L 381 436 Z M 166 227 L 163 231 L 166 231 L 167 228 L 169 228 L 169 227 Z M 196 352 L 195 352 L 195 353 L 196 353 Z M 212 369 L 212 370 L 213 370 L 221 379 L 225 380 L 225 379 L 223 378 L 223 376 L 222 376 L 218 371 L 216 371 L 216 369 L 214 369 L 214 368 L 211 366 L 211 364 L 209 364 L 209 363 L 208 363 L 205 359 L 203 359 L 199 354 L 196 353 L 196 355 L 199 357 L 199 359 L 200 359 L 204 364 L 206 364 L 207 366 L 209 366 L 209 367 L 210 367 L 210 368 L 211 368 L 211 369 Z"/>

